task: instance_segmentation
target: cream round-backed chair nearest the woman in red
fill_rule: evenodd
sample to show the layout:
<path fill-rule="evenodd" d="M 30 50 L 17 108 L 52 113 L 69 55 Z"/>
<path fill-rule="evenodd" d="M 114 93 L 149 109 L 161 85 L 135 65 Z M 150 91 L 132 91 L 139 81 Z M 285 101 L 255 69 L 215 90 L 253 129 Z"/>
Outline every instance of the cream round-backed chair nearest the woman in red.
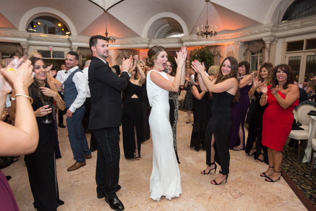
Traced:
<path fill-rule="evenodd" d="M 299 161 L 300 155 L 301 155 L 301 140 L 307 140 L 308 139 L 309 119 L 310 119 L 311 116 L 307 115 L 307 113 L 310 110 L 316 111 L 316 108 L 314 106 L 312 106 L 312 105 L 305 104 L 305 105 L 301 105 L 297 109 L 297 112 L 296 112 L 297 113 L 297 121 L 302 124 L 302 126 L 300 126 L 300 127 L 303 128 L 304 130 L 291 130 L 291 132 L 289 134 L 289 138 L 292 138 L 292 139 L 295 139 L 295 140 L 298 141 L 297 161 Z M 293 115 L 294 115 L 294 118 L 295 118 L 294 110 L 293 110 Z M 294 145 L 294 149 L 295 149 L 295 145 Z"/>

